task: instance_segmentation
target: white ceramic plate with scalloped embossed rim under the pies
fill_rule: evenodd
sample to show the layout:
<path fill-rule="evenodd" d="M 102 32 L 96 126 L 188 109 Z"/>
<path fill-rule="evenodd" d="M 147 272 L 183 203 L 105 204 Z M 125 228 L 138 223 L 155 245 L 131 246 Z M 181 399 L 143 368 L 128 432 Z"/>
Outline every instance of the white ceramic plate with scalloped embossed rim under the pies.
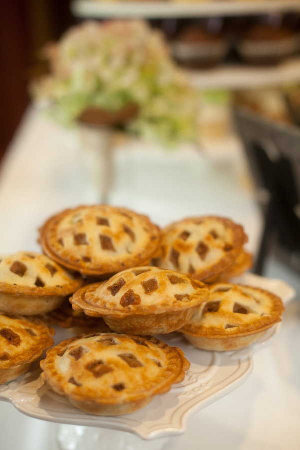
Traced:
<path fill-rule="evenodd" d="M 247 274 L 243 283 L 276 292 L 284 303 L 295 291 L 281 280 Z M 34 418 L 72 425 L 95 426 L 128 431 L 144 439 L 152 439 L 184 431 L 188 417 L 242 384 L 252 371 L 252 353 L 277 333 L 279 326 L 269 329 L 254 345 L 232 352 L 202 351 L 187 343 L 179 333 L 160 336 L 172 346 L 179 346 L 190 361 L 190 369 L 181 384 L 146 407 L 119 417 L 86 414 L 54 393 L 41 379 L 36 362 L 21 378 L 0 386 L 0 400 L 11 402 L 20 412 Z M 70 330 L 59 330 L 56 342 L 69 337 Z"/>

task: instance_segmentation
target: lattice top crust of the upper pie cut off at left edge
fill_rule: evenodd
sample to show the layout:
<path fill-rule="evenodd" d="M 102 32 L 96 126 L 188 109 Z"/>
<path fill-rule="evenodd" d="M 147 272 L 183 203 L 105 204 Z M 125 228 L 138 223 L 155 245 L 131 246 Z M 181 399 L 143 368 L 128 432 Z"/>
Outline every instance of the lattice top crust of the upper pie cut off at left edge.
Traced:
<path fill-rule="evenodd" d="M 82 278 L 70 274 L 44 254 L 18 251 L 0 256 L 0 294 L 61 297 L 72 294 L 82 284 Z"/>

